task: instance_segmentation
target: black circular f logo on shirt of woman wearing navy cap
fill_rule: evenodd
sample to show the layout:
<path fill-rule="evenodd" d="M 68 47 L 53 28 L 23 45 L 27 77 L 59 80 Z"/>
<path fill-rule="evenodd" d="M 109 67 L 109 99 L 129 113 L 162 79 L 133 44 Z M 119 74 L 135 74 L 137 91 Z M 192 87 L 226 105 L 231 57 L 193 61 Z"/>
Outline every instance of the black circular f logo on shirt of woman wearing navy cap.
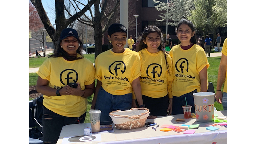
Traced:
<path fill-rule="evenodd" d="M 78 73 L 74 69 L 66 69 L 60 73 L 60 82 L 64 86 L 68 85 L 69 83 L 76 83 L 78 81 Z M 62 89 L 63 86 L 56 86 L 54 85 L 55 89 Z"/>

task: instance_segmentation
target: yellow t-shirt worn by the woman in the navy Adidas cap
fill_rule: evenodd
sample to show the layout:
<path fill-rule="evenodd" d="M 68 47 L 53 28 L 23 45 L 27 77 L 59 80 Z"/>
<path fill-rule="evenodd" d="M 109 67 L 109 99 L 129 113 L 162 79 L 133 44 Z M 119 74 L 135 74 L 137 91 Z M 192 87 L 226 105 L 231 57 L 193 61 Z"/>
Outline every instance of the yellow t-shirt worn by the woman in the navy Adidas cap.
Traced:
<path fill-rule="evenodd" d="M 79 55 L 81 56 L 81 55 Z M 61 89 L 70 82 L 79 82 L 81 90 L 94 82 L 95 68 L 86 58 L 67 61 L 62 57 L 47 58 L 36 72 L 48 80 L 47 86 Z M 66 117 L 80 117 L 86 112 L 87 98 L 74 95 L 44 95 L 43 105 L 49 110 Z"/>

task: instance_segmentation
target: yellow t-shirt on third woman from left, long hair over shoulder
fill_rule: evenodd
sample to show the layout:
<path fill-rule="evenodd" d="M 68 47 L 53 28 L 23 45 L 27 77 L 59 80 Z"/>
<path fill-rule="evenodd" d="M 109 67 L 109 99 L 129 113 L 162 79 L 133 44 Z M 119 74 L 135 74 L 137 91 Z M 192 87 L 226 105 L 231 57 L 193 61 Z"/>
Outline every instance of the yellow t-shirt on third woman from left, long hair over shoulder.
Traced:
<path fill-rule="evenodd" d="M 166 66 L 164 53 L 150 53 L 146 48 L 139 52 L 141 60 L 140 85 L 142 95 L 152 98 L 161 98 L 167 95 L 172 97 L 172 58 L 166 54 L 169 71 Z"/>

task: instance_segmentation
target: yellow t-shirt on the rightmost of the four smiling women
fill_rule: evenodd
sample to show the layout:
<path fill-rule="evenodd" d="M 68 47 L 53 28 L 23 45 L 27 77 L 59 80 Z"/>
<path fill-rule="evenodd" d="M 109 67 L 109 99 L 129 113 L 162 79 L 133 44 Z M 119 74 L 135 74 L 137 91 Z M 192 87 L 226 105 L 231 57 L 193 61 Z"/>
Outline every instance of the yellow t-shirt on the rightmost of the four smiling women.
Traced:
<path fill-rule="evenodd" d="M 201 81 L 199 72 L 205 66 L 207 68 L 210 66 L 204 49 L 194 44 L 190 49 L 183 50 L 179 44 L 171 49 L 170 56 L 172 58 L 172 71 L 174 74 L 172 95 L 179 97 L 195 89 L 200 92 Z"/>

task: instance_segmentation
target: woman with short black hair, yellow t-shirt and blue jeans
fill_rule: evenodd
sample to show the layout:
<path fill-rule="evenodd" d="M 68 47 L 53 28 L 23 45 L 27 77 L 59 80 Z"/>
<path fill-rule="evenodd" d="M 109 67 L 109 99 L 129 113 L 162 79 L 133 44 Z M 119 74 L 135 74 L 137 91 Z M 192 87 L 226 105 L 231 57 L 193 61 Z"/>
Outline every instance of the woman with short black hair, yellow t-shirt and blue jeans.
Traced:
<path fill-rule="evenodd" d="M 97 85 L 91 109 L 101 110 L 100 121 L 111 121 L 111 111 L 130 109 L 132 89 L 140 107 L 144 107 L 140 86 L 140 56 L 124 48 L 126 37 L 127 29 L 124 25 L 112 24 L 108 28 L 108 39 L 113 48 L 95 59 Z"/>

